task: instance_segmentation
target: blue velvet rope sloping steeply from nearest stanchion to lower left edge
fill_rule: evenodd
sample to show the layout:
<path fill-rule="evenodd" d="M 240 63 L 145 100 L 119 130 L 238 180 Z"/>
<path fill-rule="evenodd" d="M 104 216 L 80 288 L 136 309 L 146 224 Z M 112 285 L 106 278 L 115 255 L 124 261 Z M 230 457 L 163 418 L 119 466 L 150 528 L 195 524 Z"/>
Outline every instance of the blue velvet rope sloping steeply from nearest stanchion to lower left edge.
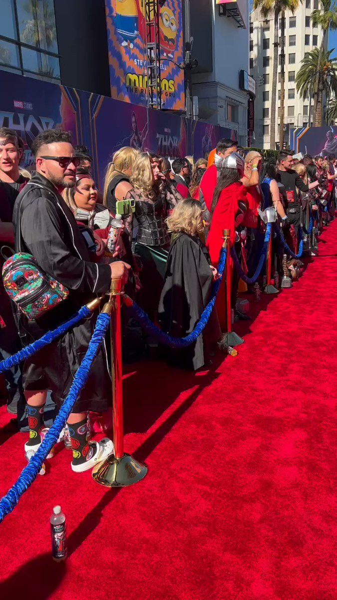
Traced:
<path fill-rule="evenodd" d="M 98 350 L 103 342 L 103 338 L 106 334 L 107 328 L 109 327 L 109 323 L 110 314 L 101 313 L 98 315 L 95 331 L 92 335 L 91 342 L 89 343 L 88 350 L 86 351 L 86 355 L 77 370 L 68 397 L 62 404 L 58 416 L 56 416 L 56 419 L 41 443 L 40 448 L 31 458 L 25 469 L 23 469 L 17 482 L 13 485 L 10 491 L 8 491 L 6 496 L 0 500 L 0 523 L 2 523 L 6 515 L 10 514 L 10 512 L 14 510 L 22 494 L 24 494 L 25 491 L 28 490 L 29 486 L 35 481 L 38 473 L 41 470 L 43 461 L 46 459 L 46 456 L 58 441 L 59 434 L 64 428 L 65 422 L 67 421 L 80 392 L 88 380 L 92 363 L 94 362 Z"/>

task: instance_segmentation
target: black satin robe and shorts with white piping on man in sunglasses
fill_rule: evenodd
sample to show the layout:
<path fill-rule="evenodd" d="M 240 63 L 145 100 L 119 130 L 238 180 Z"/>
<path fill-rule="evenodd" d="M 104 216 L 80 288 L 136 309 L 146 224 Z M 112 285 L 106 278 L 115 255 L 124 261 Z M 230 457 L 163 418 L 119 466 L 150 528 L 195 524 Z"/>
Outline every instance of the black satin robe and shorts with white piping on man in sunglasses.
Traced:
<path fill-rule="evenodd" d="M 83 304 L 110 288 L 109 265 L 90 262 L 84 239 L 62 196 L 43 175 L 35 173 L 16 199 L 13 213 L 16 251 L 32 254 L 38 265 L 70 291 L 68 298 L 40 319 L 20 314 L 20 336 L 27 345 L 69 319 Z M 81 322 L 25 362 L 24 388 L 51 389 L 61 403 L 88 349 L 97 315 Z M 106 354 L 100 350 L 73 412 L 103 412 L 110 404 Z M 109 400 L 109 401 L 108 401 Z"/>

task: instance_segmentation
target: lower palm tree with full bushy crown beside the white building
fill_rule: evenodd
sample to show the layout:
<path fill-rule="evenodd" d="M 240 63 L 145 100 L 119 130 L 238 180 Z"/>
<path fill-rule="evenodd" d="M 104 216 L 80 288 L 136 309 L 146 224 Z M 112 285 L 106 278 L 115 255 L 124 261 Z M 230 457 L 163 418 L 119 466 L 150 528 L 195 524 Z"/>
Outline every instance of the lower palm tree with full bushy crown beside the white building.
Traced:
<path fill-rule="evenodd" d="M 307 52 L 296 75 L 296 89 L 301 98 L 312 90 L 312 82 L 318 79 L 316 119 L 323 118 L 323 95 L 329 99 L 337 95 L 337 59 L 331 58 L 333 50 L 314 48 Z M 315 125 L 316 126 L 316 125 Z"/>

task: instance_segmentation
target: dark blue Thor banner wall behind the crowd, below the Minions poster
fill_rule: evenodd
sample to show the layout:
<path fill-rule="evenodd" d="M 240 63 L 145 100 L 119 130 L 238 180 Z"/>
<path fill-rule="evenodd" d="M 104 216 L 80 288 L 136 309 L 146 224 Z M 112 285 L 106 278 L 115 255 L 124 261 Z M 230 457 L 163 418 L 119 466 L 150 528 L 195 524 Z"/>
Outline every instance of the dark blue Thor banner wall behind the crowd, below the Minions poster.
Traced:
<path fill-rule="evenodd" d="M 123 146 L 170 158 L 214 148 L 234 132 L 165 111 L 148 110 L 98 94 L 0 71 L 0 127 L 19 132 L 25 142 L 23 163 L 34 168 L 31 142 L 40 131 L 61 127 L 75 143 L 84 143 L 94 157 L 94 175 L 103 184 L 113 153 Z"/>

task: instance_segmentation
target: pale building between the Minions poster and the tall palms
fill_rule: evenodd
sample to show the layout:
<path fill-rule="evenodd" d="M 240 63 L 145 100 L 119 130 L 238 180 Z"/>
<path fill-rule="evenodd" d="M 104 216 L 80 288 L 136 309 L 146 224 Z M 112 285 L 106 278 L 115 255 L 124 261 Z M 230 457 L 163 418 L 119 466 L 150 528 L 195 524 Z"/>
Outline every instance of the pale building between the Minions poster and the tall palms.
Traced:
<path fill-rule="evenodd" d="M 198 15 L 199 8 L 206 4 L 211 19 L 208 31 L 202 29 L 202 13 Z M 240 70 L 249 73 L 249 2 L 238 0 L 219 5 L 216 0 L 192 0 L 191 13 L 201 27 L 200 34 L 192 28 L 192 54 L 201 63 L 206 52 L 205 38 L 212 37 L 209 68 L 197 70 L 192 77 L 199 117 L 234 130 L 239 144 L 246 146 L 248 93 L 239 88 L 239 73 Z"/>

